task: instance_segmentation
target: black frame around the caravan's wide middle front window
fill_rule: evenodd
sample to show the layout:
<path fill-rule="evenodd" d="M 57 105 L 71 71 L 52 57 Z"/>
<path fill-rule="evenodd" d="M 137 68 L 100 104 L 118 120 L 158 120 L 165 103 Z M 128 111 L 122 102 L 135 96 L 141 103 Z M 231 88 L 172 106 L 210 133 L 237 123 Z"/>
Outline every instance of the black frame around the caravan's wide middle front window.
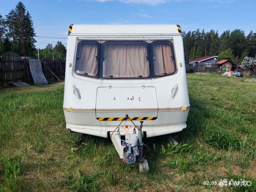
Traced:
<path fill-rule="evenodd" d="M 147 77 L 131 77 L 131 78 L 127 78 L 127 77 L 118 77 L 118 78 L 115 78 L 115 77 L 104 77 L 103 76 L 103 57 L 104 57 L 104 52 L 105 52 L 105 48 L 104 48 L 104 45 L 106 43 L 145 43 L 146 44 L 146 50 L 147 50 L 147 57 L 148 57 L 148 65 L 149 65 L 149 76 Z M 108 40 L 108 41 L 105 41 L 104 43 L 102 43 L 102 46 L 101 46 L 101 61 L 100 61 L 100 79 L 151 79 L 152 78 L 152 74 L 151 74 L 151 57 L 150 57 L 150 46 L 149 46 L 149 43 L 147 43 L 146 41 L 144 40 L 140 40 L 140 41 L 130 41 L 130 40 L 127 40 L 127 41 L 115 41 L 115 40 Z"/>

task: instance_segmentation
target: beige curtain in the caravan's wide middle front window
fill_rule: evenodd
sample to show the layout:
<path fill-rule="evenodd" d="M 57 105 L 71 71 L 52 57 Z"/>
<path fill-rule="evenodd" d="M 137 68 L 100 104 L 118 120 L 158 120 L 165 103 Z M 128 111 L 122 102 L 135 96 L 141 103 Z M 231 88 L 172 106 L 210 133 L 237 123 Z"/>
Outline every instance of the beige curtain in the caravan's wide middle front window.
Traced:
<path fill-rule="evenodd" d="M 145 43 L 106 43 L 103 76 L 113 78 L 148 77 L 149 61 Z"/>

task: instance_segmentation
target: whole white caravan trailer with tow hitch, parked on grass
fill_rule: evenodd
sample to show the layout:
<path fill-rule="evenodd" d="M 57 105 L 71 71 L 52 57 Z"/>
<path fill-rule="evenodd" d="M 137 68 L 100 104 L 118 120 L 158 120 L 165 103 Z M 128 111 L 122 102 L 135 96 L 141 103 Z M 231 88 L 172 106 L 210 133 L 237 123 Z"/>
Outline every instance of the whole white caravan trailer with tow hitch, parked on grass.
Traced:
<path fill-rule="evenodd" d="M 179 25 L 70 25 L 63 110 L 83 134 L 76 147 L 109 136 L 124 162 L 145 168 L 143 137 L 182 131 L 189 108 Z"/>

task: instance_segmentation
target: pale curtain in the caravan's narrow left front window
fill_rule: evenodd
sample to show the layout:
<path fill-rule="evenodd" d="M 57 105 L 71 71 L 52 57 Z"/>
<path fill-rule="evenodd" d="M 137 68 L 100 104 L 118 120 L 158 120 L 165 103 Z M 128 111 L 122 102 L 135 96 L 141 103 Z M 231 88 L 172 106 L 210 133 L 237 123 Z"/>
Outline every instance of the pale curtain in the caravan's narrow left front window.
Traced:
<path fill-rule="evenodd" d="M 83 42 L 79 44 L 76 58 L 75 71 L 79 74 L 95 76 L 98 71 L 98 61 L 96 60 L 98 44 Z"/>

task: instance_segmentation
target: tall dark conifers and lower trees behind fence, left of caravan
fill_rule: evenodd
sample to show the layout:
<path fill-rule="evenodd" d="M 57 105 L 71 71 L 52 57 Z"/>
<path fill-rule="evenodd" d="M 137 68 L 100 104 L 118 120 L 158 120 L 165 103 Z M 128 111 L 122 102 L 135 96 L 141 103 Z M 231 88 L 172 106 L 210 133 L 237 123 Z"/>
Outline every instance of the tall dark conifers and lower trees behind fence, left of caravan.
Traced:
<path fill-rule="evenodd" d="M 35 43 L 37 42 L 33 21 L 29 11 L 20 1 L 5 18 L 0 14 L 0 55 L 5 52 L 15 52 L 24 57 L 38 57 Z M 39 58 L 59 57 L 66 59 L 66 48 L 58 41 L 53 47 L 39 49 Z"/>

